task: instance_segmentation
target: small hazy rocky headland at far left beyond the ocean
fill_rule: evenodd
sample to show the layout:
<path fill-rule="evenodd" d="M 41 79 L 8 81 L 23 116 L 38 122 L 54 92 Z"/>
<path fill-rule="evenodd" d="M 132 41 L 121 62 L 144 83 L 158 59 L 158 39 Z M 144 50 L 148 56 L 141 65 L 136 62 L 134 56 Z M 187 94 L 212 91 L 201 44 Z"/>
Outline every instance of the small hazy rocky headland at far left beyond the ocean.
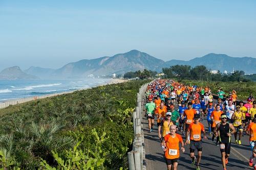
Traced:
<path fill-rule="evenodd" d="M 6 68 L 0 72 L 0 79 L 38 79 L 38 77 L 26 74 L 18 66 Z"/>

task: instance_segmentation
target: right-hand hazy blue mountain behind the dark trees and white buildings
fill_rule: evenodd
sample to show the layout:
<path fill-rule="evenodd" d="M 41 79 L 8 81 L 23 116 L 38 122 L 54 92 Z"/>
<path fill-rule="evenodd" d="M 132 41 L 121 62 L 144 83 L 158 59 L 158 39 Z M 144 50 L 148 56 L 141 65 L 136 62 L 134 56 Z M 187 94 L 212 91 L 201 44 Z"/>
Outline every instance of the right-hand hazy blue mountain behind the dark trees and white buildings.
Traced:
<path fill-rule="evenodd" d="M 172 65 L 190 65 L 195 67 L 197 65 L 204 65 L 211 70 L 220 70 L 224 72 L 231 72 L 234 70 L 243 70 L 247 74 L 253 74 L 256 72 L 256 59 L 252 57 L 230 57 L 225 54 L 210 53 L 203 57 L 194 58 L 189 61 L 182 60 L 170 60 L 165 62 L 165 66 L 169 67 Z"/>

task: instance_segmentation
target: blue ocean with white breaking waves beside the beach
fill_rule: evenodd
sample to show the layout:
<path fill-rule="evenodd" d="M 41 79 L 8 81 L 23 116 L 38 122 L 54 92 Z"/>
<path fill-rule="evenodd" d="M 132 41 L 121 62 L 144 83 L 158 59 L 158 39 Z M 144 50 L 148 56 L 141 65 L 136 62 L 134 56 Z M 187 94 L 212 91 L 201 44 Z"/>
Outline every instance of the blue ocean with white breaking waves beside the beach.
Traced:
<path fill-rule="evenodd" d="M 111 79 L 0 80 L 0 103 L 107 84 Z"/>

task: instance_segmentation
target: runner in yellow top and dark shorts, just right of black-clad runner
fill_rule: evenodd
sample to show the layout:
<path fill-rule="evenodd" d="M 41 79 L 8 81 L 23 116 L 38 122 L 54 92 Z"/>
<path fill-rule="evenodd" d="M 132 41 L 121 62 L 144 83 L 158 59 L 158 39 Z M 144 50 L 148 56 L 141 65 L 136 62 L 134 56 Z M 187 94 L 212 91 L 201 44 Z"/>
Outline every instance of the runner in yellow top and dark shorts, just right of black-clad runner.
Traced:
<path fill-rule="evenodd" d="M 243 126 L 242 119 L 244 118 L 244 114 L 240 111 L 240 106 L 237 106 L 237 110 L 233 113 L 232 119 L 234 120 L 233 126 L 237 128 L 236 133 L 234 133 L 234 143 L 241 144 L 241 137 L 243 134 Z M 239 131 L 239 139 L 237 140 L 237 135 Z"/>

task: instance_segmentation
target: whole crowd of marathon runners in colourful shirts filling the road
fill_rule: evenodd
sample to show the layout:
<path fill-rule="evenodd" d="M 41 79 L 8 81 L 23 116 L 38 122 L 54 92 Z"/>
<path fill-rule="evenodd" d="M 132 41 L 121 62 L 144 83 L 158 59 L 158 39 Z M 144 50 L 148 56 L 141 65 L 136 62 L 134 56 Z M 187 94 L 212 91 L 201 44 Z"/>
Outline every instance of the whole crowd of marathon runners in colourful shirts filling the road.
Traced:
<path fill-rule="evenodd" d="M 191 164 L 199 170 L 202 138 L 207 140 L 207 133 L 213 142 L 216 138 L 215 144 L 220 147 L 224 170 L 230 154 L 231 135 L 234 135 L 234 143 L 241 144 L 241 137 L 247 134 L 252 151 L 249 165 L 253 166 L 253 159 L 256 157 L 256 102 L 252 94 L 244 104 L 243 101 L 237 101 L 235 90 L 225 95 L 220 87 L 218 100 L 214 103 L 210 87 L 156 80 L 148 85 L 145 95 L 148 130 L 158 132 L 168 170 L 177 169 L 180 145 L 184 153 L 184 144 L 189 144 Z M 208 123 L 207 131 L 200 121 Z M 176 133 L 178 131 L 181 135 Z M 256 163 L 253 168 L 256 170 Z"/>

